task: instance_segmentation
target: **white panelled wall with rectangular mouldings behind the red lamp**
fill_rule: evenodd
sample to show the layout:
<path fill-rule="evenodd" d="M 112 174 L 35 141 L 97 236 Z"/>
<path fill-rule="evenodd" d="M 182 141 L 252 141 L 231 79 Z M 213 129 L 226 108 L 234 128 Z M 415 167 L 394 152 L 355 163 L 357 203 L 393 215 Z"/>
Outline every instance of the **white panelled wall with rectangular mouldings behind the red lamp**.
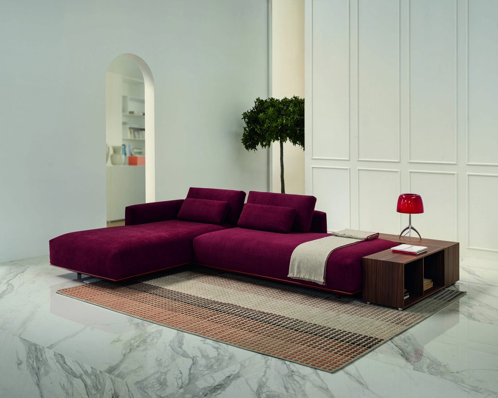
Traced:
<path fill-rule="evenodd" d="M 498 259 L 498 2 L 306 0 L 306 192 L 330 230 L 422 236 Z"/>

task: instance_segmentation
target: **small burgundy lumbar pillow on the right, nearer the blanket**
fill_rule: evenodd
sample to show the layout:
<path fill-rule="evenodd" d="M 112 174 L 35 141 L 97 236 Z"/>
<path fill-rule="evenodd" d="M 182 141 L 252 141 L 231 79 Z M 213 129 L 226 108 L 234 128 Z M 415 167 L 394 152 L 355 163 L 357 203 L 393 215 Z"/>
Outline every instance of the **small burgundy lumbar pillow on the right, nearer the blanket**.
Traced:
<path fill-rule="evenodd" d="M 292 228 L 295 217 L 296 209 L 292 207 L 246 203 L 237 226 L 287 233 Z"/>

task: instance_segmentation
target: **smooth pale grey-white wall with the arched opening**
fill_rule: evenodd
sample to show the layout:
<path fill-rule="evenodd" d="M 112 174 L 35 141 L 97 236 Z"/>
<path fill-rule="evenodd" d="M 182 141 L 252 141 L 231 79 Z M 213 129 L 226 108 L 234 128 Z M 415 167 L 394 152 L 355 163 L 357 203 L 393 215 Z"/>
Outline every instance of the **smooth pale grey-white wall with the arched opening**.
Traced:
<path fill-rule="evenodd" d="M 154 77 L 156 200 L 188 187 L 267 190 L 241 114 L 268 95 L 266 0 L 6 2 L 0 13 L 0 261 L 106 224 L 106 71 Z"/>

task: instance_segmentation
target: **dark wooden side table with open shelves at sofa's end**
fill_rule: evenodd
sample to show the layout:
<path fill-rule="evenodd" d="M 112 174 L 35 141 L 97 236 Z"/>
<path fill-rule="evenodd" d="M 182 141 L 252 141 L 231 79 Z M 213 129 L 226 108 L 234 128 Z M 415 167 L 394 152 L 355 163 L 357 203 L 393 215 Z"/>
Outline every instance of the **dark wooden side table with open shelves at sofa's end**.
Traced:
<path fill-rule="evenodd" d="M 380 234 L 394 242 L 427 246 L 418 255 L 394 253 L 390 249 L 363 258 L 363 299 L 369 303 L 404 309 L 427 298 L 459 279 L 459 243 L 434 239 L 398 239 Z M 424 278 L 433 286 L 423 289 Z M 410 296 L 404 298 L 404 289 Z"/>

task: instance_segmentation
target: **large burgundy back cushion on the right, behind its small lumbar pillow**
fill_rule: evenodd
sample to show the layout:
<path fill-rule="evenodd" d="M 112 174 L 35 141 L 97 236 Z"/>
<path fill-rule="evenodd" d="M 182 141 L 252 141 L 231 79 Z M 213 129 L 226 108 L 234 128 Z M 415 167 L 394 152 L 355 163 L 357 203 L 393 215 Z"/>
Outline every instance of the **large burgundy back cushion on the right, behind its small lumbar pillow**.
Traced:
<path fill-rule="evenodd" d="M 316 198 L 308 195 L 276 194 L 272 192 L 250 191 L 248 203 L 269 204 L 271 206 L 285 206 L 296 209 L 296 217 L 291 230 L 309 232 Z"/>

